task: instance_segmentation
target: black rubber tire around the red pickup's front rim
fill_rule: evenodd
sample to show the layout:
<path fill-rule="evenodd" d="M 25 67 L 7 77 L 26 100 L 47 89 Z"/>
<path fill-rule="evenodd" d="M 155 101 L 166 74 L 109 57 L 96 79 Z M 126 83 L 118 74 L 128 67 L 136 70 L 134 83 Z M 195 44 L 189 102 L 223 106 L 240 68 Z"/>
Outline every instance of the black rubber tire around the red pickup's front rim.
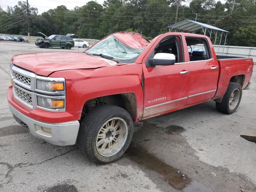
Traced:
<path fill-rule="evenodd" d="M 116 154 L 102 156 L 96 148 L 96 138 L 102 126 L 112 118 L 122 118 L 126 122 L 128 130 L 127 138 L 123 141 L 123 146 L 120 147 Z M 132 117 L 126 110 L 114 105 L 102 105 L 94 108 L 82 120 L 78 134 L 78 146 L 90 161 L 97 164 L 108 164 L 118 160 L 124 154 L 132 141 L 133 132 Z"/>

